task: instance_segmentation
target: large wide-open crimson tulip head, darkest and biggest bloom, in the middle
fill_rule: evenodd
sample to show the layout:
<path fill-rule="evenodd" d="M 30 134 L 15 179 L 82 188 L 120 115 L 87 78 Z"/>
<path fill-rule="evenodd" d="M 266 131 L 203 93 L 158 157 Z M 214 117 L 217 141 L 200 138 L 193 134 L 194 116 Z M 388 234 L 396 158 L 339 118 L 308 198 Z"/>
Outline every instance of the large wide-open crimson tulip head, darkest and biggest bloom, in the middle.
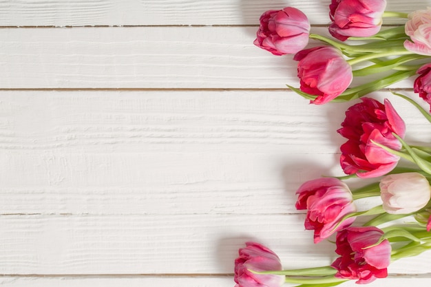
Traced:
<path fill-rule="evenodd" d="M 389 100 L 384 105 L 372 98 L 362 98 L 362 103 L 346 111 L 338 133 L 348 141 L 341 145 L 341 168 L 346 174 L 356 173 L 359 178 L 375 178 L 392 171 L 399 156 L 375 145 L 390 149 L 401 149 L 401 142 L 393 136 L 403 138 L 406 125 Z"/>

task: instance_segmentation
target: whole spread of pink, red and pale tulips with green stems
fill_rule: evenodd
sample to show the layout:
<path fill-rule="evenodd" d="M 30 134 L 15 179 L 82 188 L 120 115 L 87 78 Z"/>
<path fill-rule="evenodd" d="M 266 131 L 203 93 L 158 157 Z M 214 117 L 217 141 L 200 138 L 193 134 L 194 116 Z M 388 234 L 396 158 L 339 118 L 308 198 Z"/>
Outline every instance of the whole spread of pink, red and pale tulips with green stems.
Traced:
<path fill-rule="evenodd" d="M 297 94 L 314 104 L 331 100 L 359 103 L 346 111 L 338 133 L 340 164 L 348 176 L 310 180 L 297 189 L 298 210 L 306 211 L 304 226 L 314 231 L 317 244 L 335 236 L 330 266 L 283 270 L 280 258 L 257 242 L 246 242 L 235 259 L 236 287 L 280 287 L 285 282 L 304 287 L 336 286 L 351 279 L 367 284 L 388 275 L 390 262 L 431 248 L 431 147 L 408 145 L 406 125 L 389 100 L 380 103 L 366 94 L 419 74 L 414 92 L 431 105 L 431 63 L 404 65 L 431 56 L 431 9 L 410 14 L 386 12 L 384 0 L 332 0 L 329 32 L 339 41 L 363 39 L 369 43 L 346 45 L 309 34 L 306 16 L 295 8 L 270 10 L 260 18 L 255 45 L 275 54 L 295 54 L 301 87 Z M 406 17 L 406 25 L 381 31 L 382 17 Z M 326 45 L 304 49 L 308 39 Z M 346 60 L 349 58 L 350 60 Z M 370 65 L 353 70 L 357 63 Z M 395 70 L 389 76 L 349 87 L 353 76 Z M 412 98 L 392 93 L 412 103 L 431 123 L 431 115 Z M 403 158 L 413 167 L 401 167 Z M 348 178 L 379 181 L 350 191 Z M 357 211 L 360 198 L 381 198 L 381 204 Z M 364 224 L 357 218 L 371 217 Z M 401 218 L 409 218 L 403 224 Z"/>

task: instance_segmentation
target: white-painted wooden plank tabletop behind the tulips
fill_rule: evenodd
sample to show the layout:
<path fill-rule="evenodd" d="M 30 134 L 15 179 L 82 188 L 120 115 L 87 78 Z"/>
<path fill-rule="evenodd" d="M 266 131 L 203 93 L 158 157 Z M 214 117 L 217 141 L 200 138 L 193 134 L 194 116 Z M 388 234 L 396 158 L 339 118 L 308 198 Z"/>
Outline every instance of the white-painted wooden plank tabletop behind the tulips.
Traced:
<path fill-rule="evenodd" d="M 326 32 L 329 2 L 0 1 L 0 284 L 233 286 L 247 240 L 285 268 L 330 264 L 294 193 L 342 175 L 352 103 L 308 105 L 286 89 L 291 56 L 253 45 L 271 8 Z M 412 81 L 392 87 L 413 95 Z M 372 96 L 398 107 L 408 140 L 431 140 L 414 108 Z M 370 286 L 428 286 L 430 266 L 403 259 Z"/>

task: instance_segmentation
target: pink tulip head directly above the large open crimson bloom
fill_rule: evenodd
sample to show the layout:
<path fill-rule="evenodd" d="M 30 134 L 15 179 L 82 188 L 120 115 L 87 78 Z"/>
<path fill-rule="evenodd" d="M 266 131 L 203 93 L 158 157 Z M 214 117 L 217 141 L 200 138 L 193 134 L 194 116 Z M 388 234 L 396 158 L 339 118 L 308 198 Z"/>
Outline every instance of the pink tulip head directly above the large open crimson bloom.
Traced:
<path fill-rule="evenodd" d="M 328 103 L 352 83 L 352 67 L 335 47 L 320 46 L 302 50 L 293 59 L 299 61 L 297 76 L 301 91 L 317 96 L 311 103 Z"/>

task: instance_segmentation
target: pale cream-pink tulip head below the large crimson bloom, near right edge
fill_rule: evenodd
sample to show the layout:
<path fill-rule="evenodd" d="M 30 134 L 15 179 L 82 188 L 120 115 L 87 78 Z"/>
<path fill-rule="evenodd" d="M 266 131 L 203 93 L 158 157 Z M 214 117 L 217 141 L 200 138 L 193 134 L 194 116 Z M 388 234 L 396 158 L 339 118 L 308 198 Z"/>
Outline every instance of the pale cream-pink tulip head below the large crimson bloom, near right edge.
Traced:
<path fill-rule="evenodd" d="M 419 211 L 431 198 L 431 187 L 420 173 L 396 173 L 380 181 L 383 209 L 391 214 Z"/>

